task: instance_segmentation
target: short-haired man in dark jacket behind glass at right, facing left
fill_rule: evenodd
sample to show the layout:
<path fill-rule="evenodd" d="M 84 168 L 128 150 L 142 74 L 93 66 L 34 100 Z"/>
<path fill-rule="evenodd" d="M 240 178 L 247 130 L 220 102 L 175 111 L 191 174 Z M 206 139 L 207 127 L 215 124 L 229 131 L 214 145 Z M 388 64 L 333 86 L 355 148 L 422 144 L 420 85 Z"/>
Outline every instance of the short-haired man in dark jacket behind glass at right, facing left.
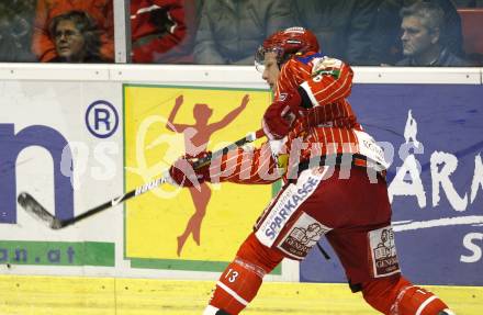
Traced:
<path fill-rule="evenodd" d="M 456 56 L 440 41 L 445 12 L 431 2 L 416 2 L 401 10 L 401 41 L 406 57 L 397 66 L 454 66 L 469 64 Z"/>

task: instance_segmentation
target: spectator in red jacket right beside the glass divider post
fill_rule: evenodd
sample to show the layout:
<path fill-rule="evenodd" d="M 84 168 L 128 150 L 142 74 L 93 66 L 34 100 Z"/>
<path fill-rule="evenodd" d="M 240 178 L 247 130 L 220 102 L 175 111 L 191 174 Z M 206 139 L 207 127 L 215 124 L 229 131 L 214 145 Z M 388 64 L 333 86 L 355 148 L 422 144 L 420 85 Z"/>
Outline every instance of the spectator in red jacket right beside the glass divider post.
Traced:
<path fill-rule="evenodd" d="M 132 0 L 133 63 L 193 63 L 194 0 Z"/>

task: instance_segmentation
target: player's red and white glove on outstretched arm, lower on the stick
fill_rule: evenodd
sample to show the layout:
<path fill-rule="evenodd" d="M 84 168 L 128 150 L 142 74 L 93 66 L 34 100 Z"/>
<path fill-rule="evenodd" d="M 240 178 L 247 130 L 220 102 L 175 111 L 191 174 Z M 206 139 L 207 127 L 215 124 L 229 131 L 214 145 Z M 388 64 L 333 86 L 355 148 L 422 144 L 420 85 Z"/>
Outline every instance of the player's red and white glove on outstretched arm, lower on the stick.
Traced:
<path fill-rule="evenodd" d="M 169 176 L 180 187 L 198 187 L 210 179 L 210 160 L 201 164 L 211 157 L 210 151 L 202 151 L 196 156 L 184 155 L 169 168 Z"/>

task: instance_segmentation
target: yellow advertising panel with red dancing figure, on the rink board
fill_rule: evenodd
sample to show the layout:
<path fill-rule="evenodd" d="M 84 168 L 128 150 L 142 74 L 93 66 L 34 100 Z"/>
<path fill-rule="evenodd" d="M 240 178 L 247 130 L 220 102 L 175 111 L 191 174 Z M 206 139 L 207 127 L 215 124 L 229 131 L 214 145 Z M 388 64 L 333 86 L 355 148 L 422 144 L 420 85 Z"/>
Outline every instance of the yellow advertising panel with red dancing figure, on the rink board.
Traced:
<path fill-rule="evenodd" d="M 257 131 L 270 101 L 267 90 L 124 86 L 125 190 Z M 164 184 L 126 203 L 125 256 L 138 268 L 221 270 L 270 198 L 271 185 Z"/>

